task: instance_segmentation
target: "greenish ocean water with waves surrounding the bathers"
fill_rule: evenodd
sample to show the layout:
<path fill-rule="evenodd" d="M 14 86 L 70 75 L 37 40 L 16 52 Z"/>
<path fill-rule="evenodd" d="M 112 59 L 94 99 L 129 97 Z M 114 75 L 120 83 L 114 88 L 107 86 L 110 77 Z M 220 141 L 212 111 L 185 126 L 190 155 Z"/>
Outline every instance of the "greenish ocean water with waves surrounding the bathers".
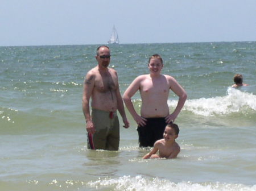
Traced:
<path fill-rule="evenodd" d="M 110 45 L 121 94 L 154 53 L 187 91 L 172 160 L 142 160 L 127 110 L 119 151 L 87 150 L 82 84 L 97 47 L 0 47 L 1 191 L 256 190 L 255 41 Z M 236 73 L 249 86 L 230 88 Z"/>

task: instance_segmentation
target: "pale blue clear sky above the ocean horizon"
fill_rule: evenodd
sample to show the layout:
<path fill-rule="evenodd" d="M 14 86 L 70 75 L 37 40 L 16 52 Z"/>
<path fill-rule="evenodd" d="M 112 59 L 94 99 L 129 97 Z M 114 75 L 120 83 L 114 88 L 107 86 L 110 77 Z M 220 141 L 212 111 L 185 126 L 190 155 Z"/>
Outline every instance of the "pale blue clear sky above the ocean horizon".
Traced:
<path fill-rule="evenodd" d="M 255 0 L 1 0 L 0 46 L 256 41 Z"/>

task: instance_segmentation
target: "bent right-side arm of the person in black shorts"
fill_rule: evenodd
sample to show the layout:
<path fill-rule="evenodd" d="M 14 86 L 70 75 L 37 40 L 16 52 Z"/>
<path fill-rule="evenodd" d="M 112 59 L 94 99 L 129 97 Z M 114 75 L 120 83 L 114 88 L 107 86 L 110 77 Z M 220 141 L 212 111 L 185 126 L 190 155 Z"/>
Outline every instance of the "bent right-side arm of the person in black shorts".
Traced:
<path fill-rule="evenodd" d="M 180 86 L 180 84 L 175 80 L 175 78 L 170 76 L 170 84 L 171 84 L 171 90 L 179 96 L 179 101 L 177 102 L 177 106 L 174 110 L 174 112 L 166 117 L 166 122 L 170 123 L 171 121 L 174 122 L 177 118 L 177 115 L 179 115 L 182 107 L 184 106 L 184 103 L 187 99 L 187 93 L 185 90 Z"/>

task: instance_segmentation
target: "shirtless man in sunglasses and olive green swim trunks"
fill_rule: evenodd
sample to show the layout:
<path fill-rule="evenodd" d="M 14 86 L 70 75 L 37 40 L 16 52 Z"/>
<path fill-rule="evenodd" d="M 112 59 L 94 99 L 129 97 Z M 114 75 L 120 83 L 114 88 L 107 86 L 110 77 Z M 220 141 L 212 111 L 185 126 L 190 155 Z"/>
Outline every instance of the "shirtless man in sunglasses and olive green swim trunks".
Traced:
<path fill-rule="evenodd" d="M 88 148 L 117 151 L 119 148 L 119 121 L 117 110 L 122 116 L 125 128 L 129 127 L 122 97 L 119 91 L 117 72 L 108 68 L 109 47 L 97 48 L 97 67 L 89 70 L 84 81 L 82 111 L 88 132 Z M 89 100 L 92 97 L 92 115 Z"/>

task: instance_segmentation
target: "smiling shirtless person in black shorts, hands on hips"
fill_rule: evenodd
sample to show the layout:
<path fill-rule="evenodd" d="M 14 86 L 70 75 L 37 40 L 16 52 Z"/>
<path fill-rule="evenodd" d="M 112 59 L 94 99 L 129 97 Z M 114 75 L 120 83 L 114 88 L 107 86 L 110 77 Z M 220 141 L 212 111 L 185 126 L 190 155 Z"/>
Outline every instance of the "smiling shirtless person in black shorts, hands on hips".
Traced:
<path fill-rule="evenodd" d="M 135 78 L 123 94 L 126 107 L 138 124 L 139 147 L 153 147 L 156 140 L 162 139 L 167 123 L 175 121 L 187 99 L 185 90 L 174 77 L 161 74 L 162 68 L 162 58 L 152 55 L 148 60 L 150 74 Z M 167 104 L 170 89 L 179 96 L 172 114 Z M 137 114 L 131 102 L 137 90 L 142 98 L 141 115 Z"/>

